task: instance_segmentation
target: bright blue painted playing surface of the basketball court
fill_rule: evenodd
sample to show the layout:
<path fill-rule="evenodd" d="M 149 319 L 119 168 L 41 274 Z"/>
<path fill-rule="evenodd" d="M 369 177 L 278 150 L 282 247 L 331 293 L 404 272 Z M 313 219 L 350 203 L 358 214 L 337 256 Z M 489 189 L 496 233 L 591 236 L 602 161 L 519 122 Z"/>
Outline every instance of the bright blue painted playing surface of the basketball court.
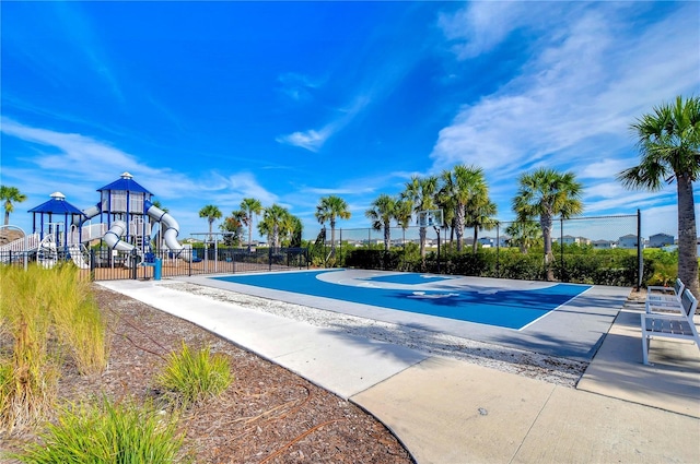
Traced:
<path fill-rule="evenodd" d="M 448 286 L 439 289 L 411 289 L 411 285 L 439 283 L 453 278 L 434 276 L 434 279 L 427 281 L 424 275 L 413 273 L 363 278 L 362 281 L 365 282 L 401 285 L 401 288 L 369 288 L 340 285 L 317 278 L 318 275 L 328 272 L 339 271 L 248 274 L 211 278 L 508 329 L 522 329 L 591 288 L 588 285 L 553 284 L 546 288 L 490 292 Z"/>

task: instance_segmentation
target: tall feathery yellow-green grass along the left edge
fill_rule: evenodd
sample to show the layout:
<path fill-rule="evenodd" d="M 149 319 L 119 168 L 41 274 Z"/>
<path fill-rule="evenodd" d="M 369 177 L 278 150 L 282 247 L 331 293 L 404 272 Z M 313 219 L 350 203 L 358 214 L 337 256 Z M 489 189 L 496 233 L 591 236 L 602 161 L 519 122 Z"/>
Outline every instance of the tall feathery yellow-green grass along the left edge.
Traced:
<path fill-rule="evenodd" d="M 50 412 L 66 356 L 80 373 L 107 365 L 106 321 L 71 263 L 0 267 L 0 431 Z"/>

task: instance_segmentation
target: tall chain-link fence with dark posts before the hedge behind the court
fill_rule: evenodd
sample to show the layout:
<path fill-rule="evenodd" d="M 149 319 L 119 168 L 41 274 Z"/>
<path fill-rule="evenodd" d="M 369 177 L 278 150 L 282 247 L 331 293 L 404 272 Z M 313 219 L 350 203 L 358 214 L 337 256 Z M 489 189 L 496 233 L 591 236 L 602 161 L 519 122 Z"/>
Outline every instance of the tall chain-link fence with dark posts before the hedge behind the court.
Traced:
<path fill-rule="evenodd" d="M 466 228 L 458 243 L 450 228 L 392 227 L 323 230 L 311 249 L 318 266 L 436 272 L 498 278 L 640 287 L 645 281 L 641 213 L 556 218 L 552 249 L 545 259 L 538 222 L 497 222 L 490 229 Z M 388 243 L 388 247 L 387 247 Z M 422 252 L 421 252 L 422 250 Z"/>

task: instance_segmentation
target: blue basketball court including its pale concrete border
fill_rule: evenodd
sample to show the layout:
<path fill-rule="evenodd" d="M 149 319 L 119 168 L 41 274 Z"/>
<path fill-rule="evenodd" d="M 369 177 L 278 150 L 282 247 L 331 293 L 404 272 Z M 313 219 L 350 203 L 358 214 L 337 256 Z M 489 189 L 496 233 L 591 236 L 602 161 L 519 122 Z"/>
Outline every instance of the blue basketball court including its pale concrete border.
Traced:
<path fill-rule="evenodd" d="M 199 285 L 591 360 L 630 288 L 369 270 L 184 277 Z M 335 324 L 342 331 L 343 319 Z M 371 322 L 368 322 L 371 324 Z M 435 340 L 439 344 L 439 340 Z"/>

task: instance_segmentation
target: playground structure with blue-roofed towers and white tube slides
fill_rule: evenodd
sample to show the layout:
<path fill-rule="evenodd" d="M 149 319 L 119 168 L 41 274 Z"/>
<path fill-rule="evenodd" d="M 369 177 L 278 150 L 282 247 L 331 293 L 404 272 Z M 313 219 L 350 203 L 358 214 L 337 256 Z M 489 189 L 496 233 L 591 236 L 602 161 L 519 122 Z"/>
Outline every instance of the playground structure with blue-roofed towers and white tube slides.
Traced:
<path fill-rule="evenodd" d="M 0 247 L 0 262 L 27 253 L 45 267 L 59 260 L 70 259 L 80 269 L 91 266 L 153 265 L 153 226 L 163 231 L 166 257 L 175 260 L 191 260 L 191 248 L 177 241 L 179 225 L 170 214 L 152 203 L 153 194 L 124 172 L 116 181 L 97 189 L 100 202 L 80 210 L 66 201 L 60 192 L 50 200 L 30 210 L 33 215 L 31 235 Z M 97 222 L 98 221 L 98 222 Z M 100 253 L 100 263 L 91 263 L 90 243 L 101 240 L 109 253 Z M 160 240 L 158 240 L 160 241 Z M 158 243 L 160 246 L 160 243 Z M 94 255 L 94 254 L 93 254 Z"/>

